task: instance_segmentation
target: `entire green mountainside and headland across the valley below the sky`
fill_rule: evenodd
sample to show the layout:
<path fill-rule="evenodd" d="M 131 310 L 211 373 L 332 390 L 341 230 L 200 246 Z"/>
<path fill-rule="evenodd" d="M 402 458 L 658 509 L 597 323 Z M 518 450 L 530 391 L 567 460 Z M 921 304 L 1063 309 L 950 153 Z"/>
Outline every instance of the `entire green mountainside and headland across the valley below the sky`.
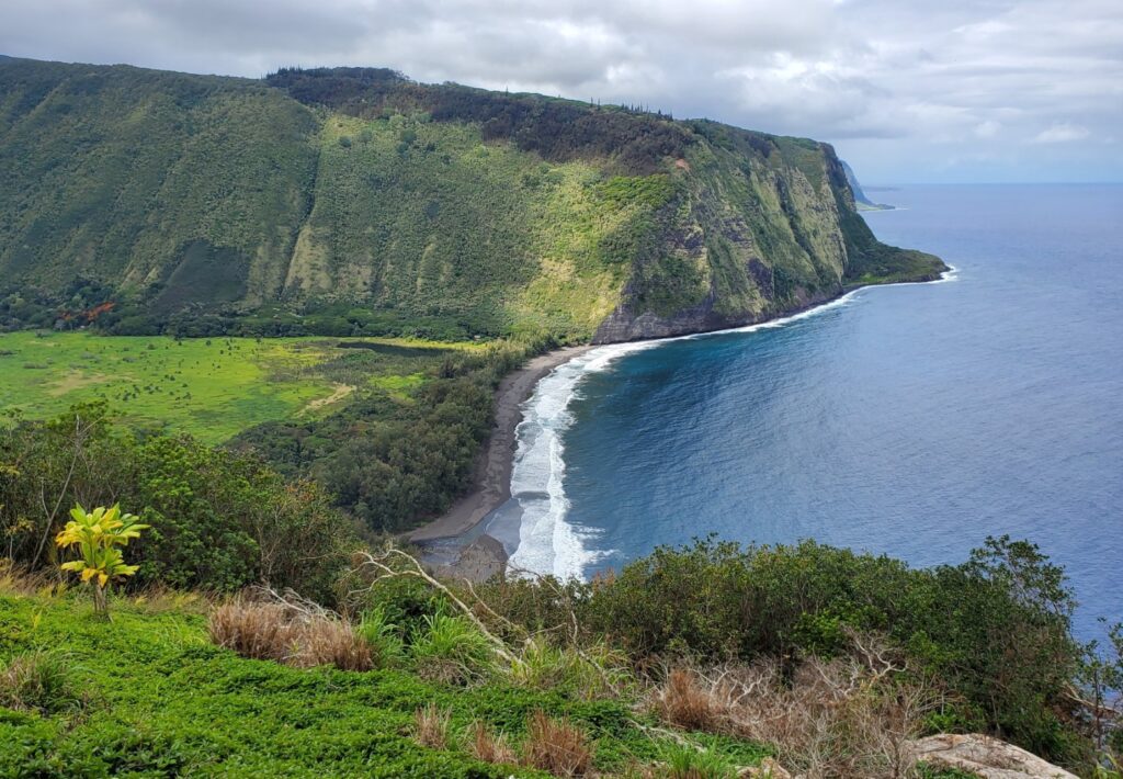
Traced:
<path fill-rule="evenodd" d="M 0 175 L 8 327 L 604 342 L 943 269 L 825 144 L 387 70 L 7 60 Z"/>

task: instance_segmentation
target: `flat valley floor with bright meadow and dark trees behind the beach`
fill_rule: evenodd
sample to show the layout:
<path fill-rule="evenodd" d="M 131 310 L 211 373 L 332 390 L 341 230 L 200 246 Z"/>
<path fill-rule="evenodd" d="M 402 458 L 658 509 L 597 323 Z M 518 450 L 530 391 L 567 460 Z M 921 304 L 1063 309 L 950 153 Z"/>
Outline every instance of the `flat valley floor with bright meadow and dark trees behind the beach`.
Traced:
<path fill-rule="evenodd" d="M 63 463 L 46 472 L 61 474 L 53 488 L 69 489 L 65 506 L 86 501 L 62 481 L 75 442 L 36 438 L 67 427 L 44 417 L 107 402 L 121 437 L 124 428 L 146 443 L 154 433 L 188 433 L 192 451 L 225 443 L 284 477 L 314 479 L 371 531 L 399 531 L 467 487 L 491 433 L 494 387 L 529 351 L 503 342 L 0 334 L 0 365 L 11 366 L 0 371 L 10 404 L 0 410 L 16 413 L 0 418 L 0 450 L 38 447 Z M 101 502 L 131 488 L 116 481 L 117 470 L 98 472 L 91 467 Z"/>

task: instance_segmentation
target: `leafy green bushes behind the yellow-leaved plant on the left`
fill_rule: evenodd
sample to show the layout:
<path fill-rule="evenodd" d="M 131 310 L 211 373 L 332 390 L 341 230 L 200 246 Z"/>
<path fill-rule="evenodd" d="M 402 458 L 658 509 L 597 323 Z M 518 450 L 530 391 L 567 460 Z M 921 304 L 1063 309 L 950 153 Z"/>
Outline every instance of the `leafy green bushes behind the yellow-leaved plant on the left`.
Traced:
<path fill-rule="evenodd" d="M 113 426 L 103 404 L 0 428 L 0 495 L 4 553 L 30 570 L 56 562 L 46 540 L 69 507 L 126 498 L 150 526 L 129 546 L 137 588 L 230 592 L 268 582 L 330 601 L 356 545 L 314 484 L 286 483 L 253 456 L 190 436 L 137 437 Z"/>

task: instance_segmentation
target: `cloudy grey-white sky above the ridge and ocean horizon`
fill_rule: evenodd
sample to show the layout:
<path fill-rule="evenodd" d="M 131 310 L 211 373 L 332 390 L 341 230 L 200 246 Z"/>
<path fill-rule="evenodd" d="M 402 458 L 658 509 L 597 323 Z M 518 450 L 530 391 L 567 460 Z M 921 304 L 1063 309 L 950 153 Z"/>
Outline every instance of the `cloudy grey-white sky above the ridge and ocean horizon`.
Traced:
<path fill-rule="evenodd" d="M 647 103 L 866 182 L 1123 181 L 1123 0 L 0 0 L 0 53 Z"/>

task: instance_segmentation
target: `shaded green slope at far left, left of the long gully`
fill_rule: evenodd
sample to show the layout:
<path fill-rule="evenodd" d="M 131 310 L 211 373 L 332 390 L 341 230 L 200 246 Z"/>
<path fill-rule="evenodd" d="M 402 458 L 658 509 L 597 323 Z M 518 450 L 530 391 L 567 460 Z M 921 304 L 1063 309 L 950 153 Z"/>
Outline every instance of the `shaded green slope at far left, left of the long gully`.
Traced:
<path fill-rule="evenodd" d="M 156 312 L 277 289 L 310 205 L 312 111 L 253 81 L 128 66 L 15 60 L 0 80 L 7 279 L 86 273 Z"/>

